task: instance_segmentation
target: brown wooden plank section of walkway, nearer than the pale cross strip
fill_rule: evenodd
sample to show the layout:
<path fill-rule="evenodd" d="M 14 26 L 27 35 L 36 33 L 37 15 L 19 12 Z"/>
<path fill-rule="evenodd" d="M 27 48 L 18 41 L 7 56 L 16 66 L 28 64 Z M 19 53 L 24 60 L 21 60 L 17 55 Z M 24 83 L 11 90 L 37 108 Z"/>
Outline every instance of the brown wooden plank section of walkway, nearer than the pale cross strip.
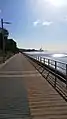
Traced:
<path fill-rule="evenodd" d="M 33 119 L 67 119 L 67 103 L 43 77 L 27 78 L 25 84 Z"/>

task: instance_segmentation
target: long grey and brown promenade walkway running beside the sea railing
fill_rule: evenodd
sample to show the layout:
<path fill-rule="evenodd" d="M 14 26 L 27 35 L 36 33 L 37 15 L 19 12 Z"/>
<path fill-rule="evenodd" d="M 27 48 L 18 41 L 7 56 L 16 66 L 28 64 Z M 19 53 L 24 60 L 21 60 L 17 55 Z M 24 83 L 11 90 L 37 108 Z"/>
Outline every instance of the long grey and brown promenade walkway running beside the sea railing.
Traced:
<path fill-rule="evenodd" d="M 0 119 L 67 119 L 67 102 L 17 54 L 0 69 Z"/>

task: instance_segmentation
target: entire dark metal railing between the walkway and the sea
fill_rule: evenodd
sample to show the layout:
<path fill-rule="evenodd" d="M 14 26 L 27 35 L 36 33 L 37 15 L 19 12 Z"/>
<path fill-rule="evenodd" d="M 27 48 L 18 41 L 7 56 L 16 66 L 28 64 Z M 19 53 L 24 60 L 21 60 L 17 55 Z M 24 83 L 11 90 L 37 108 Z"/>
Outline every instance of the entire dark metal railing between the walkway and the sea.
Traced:
<path fill-rule="evenodd" d="M 67 64 L 47 57 L 24 53 L 30 63 L 67 101 Z"/>

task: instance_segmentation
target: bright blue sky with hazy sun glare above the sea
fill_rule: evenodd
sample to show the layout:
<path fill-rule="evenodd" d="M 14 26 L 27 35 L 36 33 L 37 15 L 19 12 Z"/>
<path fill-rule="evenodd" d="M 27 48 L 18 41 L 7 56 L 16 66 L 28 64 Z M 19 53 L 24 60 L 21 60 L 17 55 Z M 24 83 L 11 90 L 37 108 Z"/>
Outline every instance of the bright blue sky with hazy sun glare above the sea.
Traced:
<path fill-rule="evenodd" d="M 67 51 L 67 0 L 0 0 L 1 18 L 19 48 Z"/>

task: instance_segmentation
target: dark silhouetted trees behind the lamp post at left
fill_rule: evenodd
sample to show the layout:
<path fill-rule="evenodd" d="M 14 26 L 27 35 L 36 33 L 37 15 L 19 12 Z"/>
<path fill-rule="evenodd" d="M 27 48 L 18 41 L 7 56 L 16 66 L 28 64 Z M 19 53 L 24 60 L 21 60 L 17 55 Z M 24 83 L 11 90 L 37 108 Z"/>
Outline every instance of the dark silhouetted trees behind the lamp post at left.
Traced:
<path fill-rule="evenodd" d="M 13 39 L 8 39 L 9 32 L 6 29 L 0 28 L 0 50 L 5 49 L 5 53 L 10 51 L 12 53 L 18 52 L 17 43 Z"/>

